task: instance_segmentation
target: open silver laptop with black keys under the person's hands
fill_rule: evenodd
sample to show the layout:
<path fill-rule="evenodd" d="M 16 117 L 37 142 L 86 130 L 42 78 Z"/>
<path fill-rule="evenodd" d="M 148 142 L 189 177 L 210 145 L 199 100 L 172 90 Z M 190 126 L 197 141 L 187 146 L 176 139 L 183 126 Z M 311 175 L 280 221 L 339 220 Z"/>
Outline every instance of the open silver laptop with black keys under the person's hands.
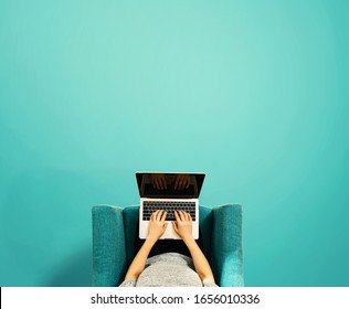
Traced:
<path fill-rule="evenodd" d="M 148 235 L 151 214 L 167 211 L 166 222 L 176 221 L 174 211 L 189 212 L 193 238 L 199 238 L 199 195 L 204 173 L 136 172 L 140 195 L 139 238 Z M 180 239 L 172 224 L 168 224 L 160 239 Z"/>

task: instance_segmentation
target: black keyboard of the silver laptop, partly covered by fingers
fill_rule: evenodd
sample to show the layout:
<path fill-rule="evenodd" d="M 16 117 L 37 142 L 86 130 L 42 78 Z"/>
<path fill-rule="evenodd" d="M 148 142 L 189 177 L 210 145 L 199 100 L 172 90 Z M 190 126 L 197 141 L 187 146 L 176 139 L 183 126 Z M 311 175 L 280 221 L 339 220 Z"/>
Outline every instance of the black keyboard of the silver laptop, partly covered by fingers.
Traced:
<path fill-rule="evenodd" d="M 167 212 L 166 221 L 176 221 L 174 211 L 188 212 L 192 221 L 195 221 L 195 202 L 170 202 L 170 201 L 144 201 L 142 220 L 149 221 L 154 212 L 163 210 Z"/>

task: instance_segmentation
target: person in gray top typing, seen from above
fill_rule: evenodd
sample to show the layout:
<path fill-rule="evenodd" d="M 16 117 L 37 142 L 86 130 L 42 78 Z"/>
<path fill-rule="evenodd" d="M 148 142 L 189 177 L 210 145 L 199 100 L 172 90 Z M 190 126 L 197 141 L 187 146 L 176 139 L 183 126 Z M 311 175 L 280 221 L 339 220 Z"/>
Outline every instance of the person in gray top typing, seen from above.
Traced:
<path fill-rule="evenodd" d="M 191 258 L 179 253 L 163 253 L 148 258 L 151 248 L 166 231 L 166 215 L 167 212 L 161 210 L 152 213 L 148 236 L 129 266 L 120 287 L 216 287 L 211 267 L 192 237 L 192 220 L 189 213 L 174 212 L 176 222 L 173 221 L 172 225 L 188 247 Z"/>

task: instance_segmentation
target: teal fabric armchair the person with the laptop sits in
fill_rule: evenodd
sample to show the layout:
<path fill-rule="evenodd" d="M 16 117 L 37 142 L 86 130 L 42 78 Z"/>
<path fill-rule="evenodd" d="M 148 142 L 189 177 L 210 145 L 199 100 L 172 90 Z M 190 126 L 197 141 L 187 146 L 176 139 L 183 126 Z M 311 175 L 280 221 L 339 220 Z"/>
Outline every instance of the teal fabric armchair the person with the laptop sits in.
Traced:
<path fill-rule="evenodd" d="M 97 205 L 92 207 L 92 285 L 116 287 L 133 262 L 139 206 Z M 199 207 L 203 253 L 221 287 L 242 287 L 242 206 L 237 204 Z"/>

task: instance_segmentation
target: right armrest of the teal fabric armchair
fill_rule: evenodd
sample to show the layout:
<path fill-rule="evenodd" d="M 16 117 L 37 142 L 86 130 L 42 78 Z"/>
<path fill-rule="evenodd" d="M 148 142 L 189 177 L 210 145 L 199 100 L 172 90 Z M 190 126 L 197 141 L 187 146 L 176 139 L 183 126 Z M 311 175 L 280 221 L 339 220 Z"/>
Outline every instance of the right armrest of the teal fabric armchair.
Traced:
<path fill-rule="evenodd" d="M 213 207 L 211 267 L 215 281 L 221 287 L 242 287 L 242 206 Z"/>

